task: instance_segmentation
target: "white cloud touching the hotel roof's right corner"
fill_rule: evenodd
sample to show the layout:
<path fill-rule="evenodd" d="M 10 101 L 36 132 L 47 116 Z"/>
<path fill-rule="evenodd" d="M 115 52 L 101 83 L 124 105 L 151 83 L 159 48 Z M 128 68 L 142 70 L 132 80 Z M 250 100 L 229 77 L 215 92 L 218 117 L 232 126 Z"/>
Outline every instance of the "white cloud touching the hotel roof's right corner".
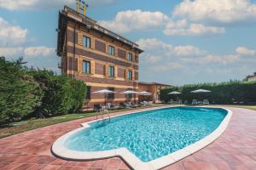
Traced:
<path fill-rule="evenodd" d="M 191 45 L 173 47 L 172 44 L 162 42 L 156 38 L 140 39 L 137 41 L 137 44 L 139 44 L 140 48 L 145 50 L 145 53 L 154 51 L 165 56 L 194 56 L 206 54 L 205 51 Z"/>

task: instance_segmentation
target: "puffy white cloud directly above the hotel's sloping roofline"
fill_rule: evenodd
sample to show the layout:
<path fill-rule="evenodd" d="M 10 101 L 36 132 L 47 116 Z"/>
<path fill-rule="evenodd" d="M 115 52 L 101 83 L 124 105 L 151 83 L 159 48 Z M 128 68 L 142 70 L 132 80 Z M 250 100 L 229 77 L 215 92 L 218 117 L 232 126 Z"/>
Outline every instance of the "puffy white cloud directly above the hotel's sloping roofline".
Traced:
<path fill-rule="evenodd" d="M 161 12 L 137 10 L 120 11 L 113 20 L 102 20 L 99 24 L 119 33 L 152 30 L 164 26 L 170 19 Z"/>

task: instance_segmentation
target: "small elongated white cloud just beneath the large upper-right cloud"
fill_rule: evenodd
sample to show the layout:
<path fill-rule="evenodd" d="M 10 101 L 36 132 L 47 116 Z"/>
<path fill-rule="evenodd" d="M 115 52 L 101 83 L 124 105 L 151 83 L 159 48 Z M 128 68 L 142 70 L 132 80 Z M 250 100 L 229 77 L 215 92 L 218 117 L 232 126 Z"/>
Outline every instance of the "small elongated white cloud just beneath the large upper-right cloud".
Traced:
<path fill-rule="evenodd" d="M 202 24 L 188 24 L 187 20 L 170 21 L 164 30 L 168 36 L 198 36 L 203 34 L 224 33 L 224 27 L 204 26 Z"/>

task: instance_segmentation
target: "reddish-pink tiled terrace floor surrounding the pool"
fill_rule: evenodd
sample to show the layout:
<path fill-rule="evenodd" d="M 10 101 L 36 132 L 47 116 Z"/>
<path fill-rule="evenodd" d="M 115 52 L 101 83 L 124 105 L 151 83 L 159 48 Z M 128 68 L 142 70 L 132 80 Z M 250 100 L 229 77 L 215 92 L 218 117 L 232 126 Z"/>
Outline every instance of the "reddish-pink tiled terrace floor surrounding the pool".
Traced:
<path fill-rule="evenodd" d="M 256 169 L 256 111 L 229 108 L 233 111 L 229 127 L 206 148 L 165 170 L 251 170 Z M 122 112 L 124 113 L 124 112 Z M 118 115 L 114 113 L 112 115 Z M 51 144 L 62 134 L 94 120 L 88 117 L 38 128 L 0 139 L 0 170 L 125 170 L 130 169 L 119 157 L 98 161 L 65 161 L 53 156 Z"/>

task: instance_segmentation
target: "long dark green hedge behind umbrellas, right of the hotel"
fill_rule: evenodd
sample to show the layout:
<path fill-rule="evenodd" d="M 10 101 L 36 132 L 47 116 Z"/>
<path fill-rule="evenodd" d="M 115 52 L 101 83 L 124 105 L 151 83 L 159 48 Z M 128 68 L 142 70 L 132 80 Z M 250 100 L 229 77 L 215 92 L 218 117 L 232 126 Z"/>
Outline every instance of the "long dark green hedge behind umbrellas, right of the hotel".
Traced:
<path fill-rule="evenodd" d="M 207 89 L 212 93 L 192 94 L 195 89 Z M 170 95 L 172 91 L 179 91 L 182 94 Z M 181 87 L 171 87 L 160 91 L 160 99 L 169 101 L 171 99 L 187 100 L 189 103 L 192 99 L 209 99 L 211 103 L 216 104 L 233 104 L 236 102 L 244 104 L 256 103 L 256 82 L 221 82 L 221 83 L 202 83 L 193 85 L 184 85 Z"/>

